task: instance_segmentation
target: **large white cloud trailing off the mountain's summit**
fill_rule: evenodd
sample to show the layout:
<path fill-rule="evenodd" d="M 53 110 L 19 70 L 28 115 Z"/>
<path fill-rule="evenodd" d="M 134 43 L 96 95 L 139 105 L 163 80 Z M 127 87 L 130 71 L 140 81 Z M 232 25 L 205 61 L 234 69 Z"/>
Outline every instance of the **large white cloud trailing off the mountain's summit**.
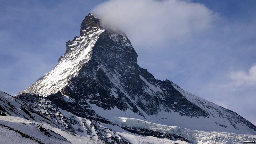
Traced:
<path fill-rule="evenodd" d="M 137 46 L 191 38 L 210 28 L 217 18 L 203 4 L 180 0 L 112 0 L 92 12 L 100 15 L 103 23 L 123 30 Z"/>

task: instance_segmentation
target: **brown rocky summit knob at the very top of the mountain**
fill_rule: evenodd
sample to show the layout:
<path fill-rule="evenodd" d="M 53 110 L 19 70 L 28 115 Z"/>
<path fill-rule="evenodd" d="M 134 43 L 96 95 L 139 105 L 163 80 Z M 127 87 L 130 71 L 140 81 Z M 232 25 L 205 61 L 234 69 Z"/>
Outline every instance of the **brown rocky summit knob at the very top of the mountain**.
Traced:
<path fill-rule="evenodd" d="M 80 35 L 85 34 L 86 30 L 92 30 L 100 26 L 99 19 L 93 13 L 89 13 L 81 24 Z"/>

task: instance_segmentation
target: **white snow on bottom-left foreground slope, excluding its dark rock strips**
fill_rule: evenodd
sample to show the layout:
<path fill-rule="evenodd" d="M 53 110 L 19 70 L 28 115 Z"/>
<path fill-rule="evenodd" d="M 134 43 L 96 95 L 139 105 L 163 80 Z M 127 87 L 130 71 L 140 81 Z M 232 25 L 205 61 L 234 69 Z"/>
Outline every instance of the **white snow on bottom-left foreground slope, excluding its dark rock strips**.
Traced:
<path fill-rule="evenodd" d="M 22 123 L 24 123 L 26 125 L 24 125 Z M 79 136 L 76 134 L 71 134 L 70 132 L 63 131 L 63 130 L 53 127 L 51 125 L 46 125 L 41 122 L 30 121 L 30 120 L 26 120 L 26 119 L 15 117 L 15 116 L 0 116 L 0 124 L 12 127 L 13 129 L 18 130 L 18 131 L 22 131 L 25 134 L 29 134 L 30 136 L 37 138 L 38 140 L 40 140 L 40 139 L 44 140 L 44 143 L 60 143 L 60 142 L 61 143 L 69 143 L 69 142 L 58 141 L 59 140 L 58 138 L 48 140 L 47 139 L 48 136 L 45 136 L 42 132 L 35 129 L 33 125 L 39 125 L 41 127 L 44 127 L 45 129 L 50 129 L 50 130 L 56 132 L 57 134 L 60 134 L 62 137 L 66 138 L 67 141 L 70 141 L 71 143 L 75 143 L 75 144 L 101 143 L 101 142 L 97 142 L 95 140 L 91 140 L 87 137 Z M 9 135 L 0 135 L 0 143 L 2 143 L 2 140 L 3 140 L 3 142 L 7 142 L 7 143 L 13 143 L 13 142 L 35 143 L 34 141 L 31 141 L 29 139 L 20 137 L 14 131 L 4 129 L 3 127 L 1 128 L 1 126 L 0 126 L 0 131 L 8 132 L 8 134 L 9 134 Z M 4 133 L 1 133 L 1 134 L 4 134 Z M 11 137 L 11 136 L 14 136 L 14 137 Z M 9 140 L 7 139 L 8 137 L 10 138 Z"/>

